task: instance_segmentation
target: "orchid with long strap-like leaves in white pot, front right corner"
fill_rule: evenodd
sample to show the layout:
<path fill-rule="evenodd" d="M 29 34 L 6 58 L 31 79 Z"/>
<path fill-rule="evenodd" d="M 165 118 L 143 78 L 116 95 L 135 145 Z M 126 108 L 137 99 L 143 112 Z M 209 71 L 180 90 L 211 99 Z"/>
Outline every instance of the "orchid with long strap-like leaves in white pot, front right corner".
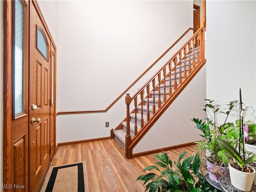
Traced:
<path fill-rule="evenodd" d="M 239 190 L 250 191 L 255 176 L 255 169 L 248 164 L 256 160 L 256 155 L 250 156 L 248 159 L 242 157 L 239 152 L 225 140 L 220 138 L 216 139 L 222 148 L 230 155 L 235 161 L 228 163 L 230 171 L 231 184 Z"/>

